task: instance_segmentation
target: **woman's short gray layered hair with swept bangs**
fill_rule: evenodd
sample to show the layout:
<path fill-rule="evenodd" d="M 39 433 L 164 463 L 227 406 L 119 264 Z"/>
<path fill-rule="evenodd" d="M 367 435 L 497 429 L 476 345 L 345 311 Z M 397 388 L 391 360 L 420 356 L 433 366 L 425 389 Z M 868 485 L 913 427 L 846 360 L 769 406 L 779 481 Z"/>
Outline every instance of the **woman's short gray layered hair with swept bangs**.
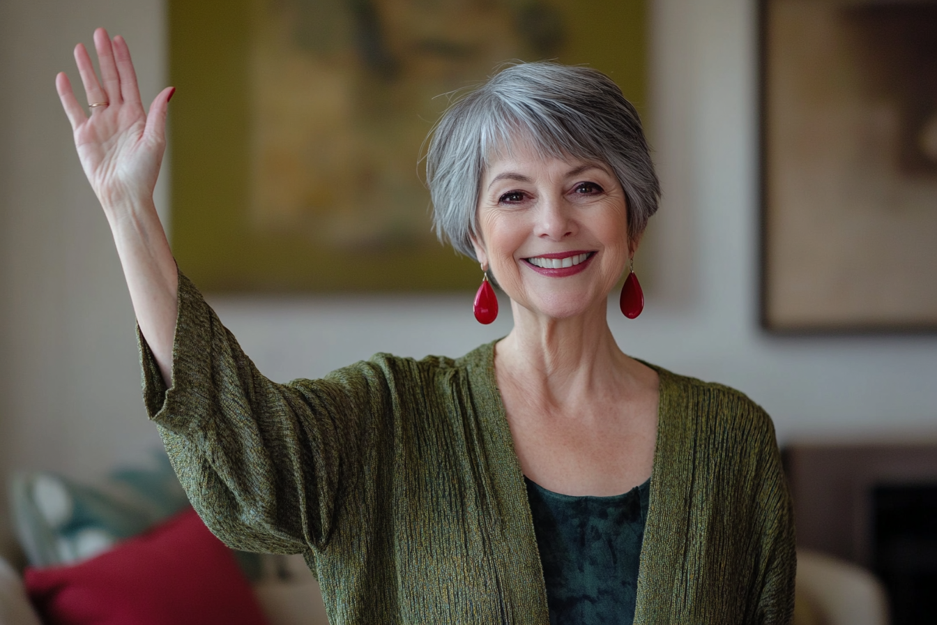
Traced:
<path fill-rule="evenodd" d="M 426 184 L 439 240 L 475 258 L 476 209 L 490 159 L 519 138 L 543 154 L 608 165 L 628 202 L 636 240 L 656 211 L 661 186 L 641 120 L 601 71 L 558 63 L 521 63 L 499 71 L 443 113 L 426 151 Z"/>

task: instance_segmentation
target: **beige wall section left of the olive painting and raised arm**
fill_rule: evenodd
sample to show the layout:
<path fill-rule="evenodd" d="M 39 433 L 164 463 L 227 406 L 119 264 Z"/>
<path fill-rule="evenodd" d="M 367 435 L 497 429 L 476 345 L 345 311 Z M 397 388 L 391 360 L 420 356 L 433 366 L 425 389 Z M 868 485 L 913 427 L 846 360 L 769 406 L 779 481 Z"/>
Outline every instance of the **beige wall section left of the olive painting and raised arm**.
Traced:
<path fill-rule="evenodd" d="M 0 478 L 79 477 L 158 445 L 140 400 L 134 317 L 111 231 L 55 94 L 96 26 L 130 42 L 144 101 L 164 82 L 161 0 L 0 2 Z M 83 91 L 79 100 L 83 101 Z M 165 183 L 159 195 L 165 196 Z M 165 205 L 165 201 L 160 201 Z M 0 540 L 7 535 L 6 492 Z"/>

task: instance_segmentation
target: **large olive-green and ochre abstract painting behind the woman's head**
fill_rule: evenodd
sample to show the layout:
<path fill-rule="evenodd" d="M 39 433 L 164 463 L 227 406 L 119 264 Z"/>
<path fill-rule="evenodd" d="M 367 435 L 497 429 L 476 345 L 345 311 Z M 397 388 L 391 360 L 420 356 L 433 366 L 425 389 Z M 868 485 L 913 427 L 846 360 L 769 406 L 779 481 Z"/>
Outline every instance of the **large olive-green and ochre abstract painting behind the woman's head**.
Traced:
<path fill-rule="evenodd" d="M 474 290 L 418 162 L 498 63 L 597 67 L 646 112 L 645 0 L 170 0 L 171 240 L 203 290 Z"/>

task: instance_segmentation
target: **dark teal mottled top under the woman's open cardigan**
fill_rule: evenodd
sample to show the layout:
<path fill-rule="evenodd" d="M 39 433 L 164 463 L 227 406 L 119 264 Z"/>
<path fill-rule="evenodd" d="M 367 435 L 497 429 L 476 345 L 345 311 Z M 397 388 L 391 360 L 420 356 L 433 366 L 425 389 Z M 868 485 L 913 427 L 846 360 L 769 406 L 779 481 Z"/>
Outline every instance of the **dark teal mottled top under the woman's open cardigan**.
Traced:
<path fill-rule="evenodd" d="M 550 625 L 631 625 L 650 481 L 612 497 L 562 495 L 524 482 Z"/>

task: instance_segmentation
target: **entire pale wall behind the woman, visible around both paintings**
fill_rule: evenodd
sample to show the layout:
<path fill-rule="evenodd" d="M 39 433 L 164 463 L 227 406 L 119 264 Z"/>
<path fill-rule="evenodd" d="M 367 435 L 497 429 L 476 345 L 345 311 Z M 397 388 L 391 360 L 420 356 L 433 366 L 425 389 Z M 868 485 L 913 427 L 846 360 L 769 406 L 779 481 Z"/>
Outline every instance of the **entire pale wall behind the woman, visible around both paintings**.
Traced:
<path fill-rule="evenodd" d="M 60 69 L 75 77 L 72 44 L 106 24 L 130 42 L 144 99 L 153 97 L 163 84 L 162 11 L 160 0 L 0 4 L 4 477 L 35 467 L 86 478 L 157 442 L 141 408 L 117 256 L 52 82 Z M 657 0 L 652 12 L 652 141 L 665 199 L 649 234 L 647 310 L 633 321 L 611 310 L 622 348 L 743 389 L 774 416 L 782 441 L 937 438 L 937 336 L 795 339 L 757 326 L 754 3 Z M 503 313 L 478 326 L 471 296 L 212 302 L 261 370 L 290 379 L 379 350 L 457 355 L 509 330 Z"/>

